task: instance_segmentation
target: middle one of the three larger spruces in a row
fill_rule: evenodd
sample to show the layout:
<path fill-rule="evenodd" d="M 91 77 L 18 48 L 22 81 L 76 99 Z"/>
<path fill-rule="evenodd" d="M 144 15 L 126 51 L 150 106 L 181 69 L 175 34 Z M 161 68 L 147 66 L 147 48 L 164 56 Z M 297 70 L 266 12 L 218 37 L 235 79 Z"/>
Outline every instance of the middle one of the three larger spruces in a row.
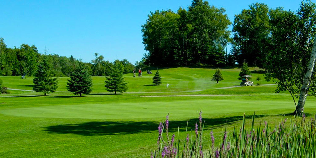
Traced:
<path fill-rule="evenodd" d="M 67 90 L 75 95 L 89 94 L 92 91 L 92 79 L 83 63 L 79 63 L 67 82 Z"/>

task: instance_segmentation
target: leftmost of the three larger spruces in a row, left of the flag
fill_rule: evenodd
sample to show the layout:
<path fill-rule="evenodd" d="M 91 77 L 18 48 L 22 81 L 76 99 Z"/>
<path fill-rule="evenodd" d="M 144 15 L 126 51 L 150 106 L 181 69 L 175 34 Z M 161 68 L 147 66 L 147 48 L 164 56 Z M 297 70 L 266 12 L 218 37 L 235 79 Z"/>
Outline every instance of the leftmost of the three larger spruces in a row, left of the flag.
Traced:
<path fill-rule="evenodd" d="M 44 95 L 55 92 L 57 89 L 58 80 L 57 77 L 53 77 L 52 65 L 48 61 L 48 58 L 43 60 L 38 65 L 37 72 L 33 78 L 34 87 L 36 92 L 43 92 Z"/>

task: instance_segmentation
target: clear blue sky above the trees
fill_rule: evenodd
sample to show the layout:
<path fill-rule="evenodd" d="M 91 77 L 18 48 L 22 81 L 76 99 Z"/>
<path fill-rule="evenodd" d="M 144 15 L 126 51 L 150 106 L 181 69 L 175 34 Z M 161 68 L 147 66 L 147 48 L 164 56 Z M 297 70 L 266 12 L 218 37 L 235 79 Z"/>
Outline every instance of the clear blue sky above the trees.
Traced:
<path fill-rule="evenodd" d="M 301 0 L 209 1 L 210 5 L 225 8 L 230 21 L 256 2 L 296 11 Z M 189 5 L 191 0 L 4 0 L 0 5 L 0 37 L 11 48 L 25 43 L 43 53 L 46 46 L 48 53 L 73 55 L 84 62 L 91 62 L 97 52 L 110 62 L 126 58 L 134 64 L 146 53 L 141 25 L 149 12 L 176 12 Z"/>

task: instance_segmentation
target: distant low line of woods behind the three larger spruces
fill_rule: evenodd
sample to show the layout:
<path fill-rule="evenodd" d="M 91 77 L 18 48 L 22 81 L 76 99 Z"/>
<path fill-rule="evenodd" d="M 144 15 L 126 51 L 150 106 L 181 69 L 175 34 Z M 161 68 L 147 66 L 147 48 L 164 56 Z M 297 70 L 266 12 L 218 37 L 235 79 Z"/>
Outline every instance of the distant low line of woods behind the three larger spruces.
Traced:
<path fill-rule="evenodd" d="M 76 70 L 76 66 L 82 63 L 91 76 L 109 76 L 114 62 L 121 65 L 123 73 L 132 72 L 134 65 L 127 59 L 109 62 L 102 55 L 94 53 L 95 59 L 84 63 L 81 60 L 58 54 L 39 53 L 36 46 L 22 44 L 20 47 L 7 48 L 4 39 L 0 38 L 0 76 L 35 76 L 38 66 L 44 59 L 52 65 L 53 76 L 70 76 Z M 144 66 L 143 62 L 137 61 L 137 66 Z"/>

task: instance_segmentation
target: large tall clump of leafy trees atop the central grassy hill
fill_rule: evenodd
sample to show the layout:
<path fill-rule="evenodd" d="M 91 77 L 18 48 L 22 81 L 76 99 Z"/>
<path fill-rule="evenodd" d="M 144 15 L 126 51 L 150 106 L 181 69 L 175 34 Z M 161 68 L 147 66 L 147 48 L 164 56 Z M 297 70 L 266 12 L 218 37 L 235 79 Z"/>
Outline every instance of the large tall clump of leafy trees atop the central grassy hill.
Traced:
<path fill-rule="evenodd" d="M 193 1 L 188 11 L 151 12 L 142 25 L 146 64 L 224 65 L 230 24 L 225 9 L 207 1 Z"/>

